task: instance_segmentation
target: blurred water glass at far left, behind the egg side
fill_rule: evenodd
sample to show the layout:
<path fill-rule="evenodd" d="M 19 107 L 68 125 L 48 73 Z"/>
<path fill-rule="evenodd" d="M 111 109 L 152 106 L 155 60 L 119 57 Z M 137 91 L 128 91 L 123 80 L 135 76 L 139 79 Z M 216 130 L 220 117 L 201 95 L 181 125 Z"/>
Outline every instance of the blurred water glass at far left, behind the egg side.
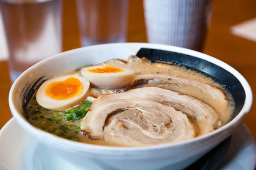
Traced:
<path fill-rule="evenodd" d="M 0 0 L 12 81 L 62 51 L 61 0 Z"/>

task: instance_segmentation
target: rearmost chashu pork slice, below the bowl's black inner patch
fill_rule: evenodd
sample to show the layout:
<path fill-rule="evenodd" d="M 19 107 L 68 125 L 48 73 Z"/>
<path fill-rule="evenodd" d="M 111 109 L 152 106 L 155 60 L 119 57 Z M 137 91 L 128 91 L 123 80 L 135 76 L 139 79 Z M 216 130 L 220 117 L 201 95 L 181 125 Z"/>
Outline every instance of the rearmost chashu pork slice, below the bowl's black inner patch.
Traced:
<path fill-rule="evenodd" d="M 226 113 L 228 101 L 221 89 L 206 83 L 198 82 L 192 79 L 175 77 L 167 74 L 141 74 L 134 77 L 132 88 L 140 87 L 159 87 L 175 91 L 180 94 L 193 96 L 210 105 L 221 115 L 221 122 L 227 122 L 229 117 Z"/>

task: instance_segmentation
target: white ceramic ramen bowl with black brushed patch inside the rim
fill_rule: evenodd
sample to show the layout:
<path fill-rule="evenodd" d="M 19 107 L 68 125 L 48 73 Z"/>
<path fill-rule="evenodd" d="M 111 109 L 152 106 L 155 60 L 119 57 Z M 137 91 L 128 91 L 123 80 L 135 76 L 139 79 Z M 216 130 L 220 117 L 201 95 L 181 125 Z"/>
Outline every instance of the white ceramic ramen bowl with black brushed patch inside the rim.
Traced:
<path fill-rule="evenodd" d="M 198 67 L 199 69 L 201 68 L 201 70 L 212 74 L 216 78 L 220 76 L 220 80 L 222 82 L 226 81 L 227 84 L 232 83 L 232 81 L 236 79 L 237 81 L 233 84 L 240 85 L 240 92 L 236 91 L 236 89 L 234 90 L 232 87 L 230 88 L 233 90 L 235 98 L 237 98 L 238 101 L 241 100 L 237 103 L 238 109 L 236 110 L 236 116 L 234 116 L 227 125 L 204 136 L 177 144 L 163 144 L 149 147 L 107 147 L 73 142 L 40 130 L 32 126 L 26 119 L 26 107 L 24 107 L 24 105 L 26 105 L 28 101 L 24 100 L 22 97 L 21 94 L 26 93 L 26 91 L 22 90 L 24 87 L 24 89 L 26 89 L 29 85 L 35 84 L 35 80 L 39 77 L 44 76 L 42 79 L 51 78 L 55 74 L 61 74 L 86 65 L 104 62 L 112 58 L 126 59 L 130 55 L 137 54 L 140 48 L 174 51 L 177 52 L 174 53 L 174 55 L 176 55 L 178 63 L 194 66 L 195 68 Z M 149 50 L 149 53 L 151 52 L 152 51 Z M 157 56 L 155 58 L 157 58 Z M 194 60 L 192 62 L 188 60 L 189 63 L 184 63 L 182 62 L 183 59 Z M 207 66 L 204 65 L 201 67 L 203 62 L 208 63 Z M 225 73 L 219 74 L 218 69 L 221 69 Z M 221 76 L 226 73 L 226 77 L 230 77 L 230 80 L 223 80 L 221 78 Z M 236 88 L 236 85 L 234 88 Z M 33 91 L 30 92 L 33 93 Z M 250 111 L 252 99 L 250 86 L 239 72 L 224 62 L 206 54 L 168 45 L 117 43 L 95 45 L 67 51 L 32 66 L 12 85 L 9 94 L 9 105 L 13 116 L 23 129 L 39 139 L 47 147 L 51 148 L 52 152 L 80 167 L 91 170 L 96 170 L 99 166 L 104 167 L 106 170 L 157 170 L 172 165 L 172 170 L 176 170 L 187 167 L 230 136 L 236 128 L 241 125 L 242 120 Z"/>

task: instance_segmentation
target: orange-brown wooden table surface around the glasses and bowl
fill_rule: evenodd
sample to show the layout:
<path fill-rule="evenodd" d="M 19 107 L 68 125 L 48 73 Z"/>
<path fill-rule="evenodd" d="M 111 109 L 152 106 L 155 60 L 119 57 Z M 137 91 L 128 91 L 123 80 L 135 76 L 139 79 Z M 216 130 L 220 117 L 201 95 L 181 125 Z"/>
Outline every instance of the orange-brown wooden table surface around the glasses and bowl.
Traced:
<path fill-rule="evenodd" d="M 79 48 L 79 33 L 75 1 L 63 1 L 63 51 Z M 212 22 L 207 35 L 204 53 L 218 58 L 239 71 L 256 94 L 256 42 L 230 33 L 230 27 L 256 17 L 255 0 L 215 0 Z M 128 42 L 146 42 L 142 0 L 130 0 Z M 7 62 L 0 62 L 0 128 L 12 118 L 8 94 L 11 82 Z M 253 105 L 256 104 L 254 97 Z M 256 108 L 245 119 L 256 139 Z"/>

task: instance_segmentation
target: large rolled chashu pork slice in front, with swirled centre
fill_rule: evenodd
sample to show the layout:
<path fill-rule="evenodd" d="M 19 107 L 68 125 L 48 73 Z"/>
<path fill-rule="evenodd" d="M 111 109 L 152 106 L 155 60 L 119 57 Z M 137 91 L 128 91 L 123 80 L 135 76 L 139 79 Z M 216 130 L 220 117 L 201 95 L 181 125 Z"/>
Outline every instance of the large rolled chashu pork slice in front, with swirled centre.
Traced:
<path fill-rule="evenodd" d="M 196 136 L 185 114 L 145 99 L 108 100 L 87 113 L 81 130 L 91 139 L 124 146 L 179 142 Z"/>

